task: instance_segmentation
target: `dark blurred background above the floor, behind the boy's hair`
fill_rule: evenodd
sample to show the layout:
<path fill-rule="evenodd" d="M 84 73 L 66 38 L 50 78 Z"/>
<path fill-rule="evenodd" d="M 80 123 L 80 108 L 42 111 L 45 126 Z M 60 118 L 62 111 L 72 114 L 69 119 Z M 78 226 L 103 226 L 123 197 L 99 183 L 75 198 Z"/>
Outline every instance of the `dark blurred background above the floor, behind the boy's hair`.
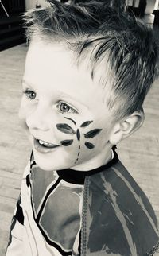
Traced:
<path fill-rule="evenodd" d="M 61 2 L 87 2 L 90 0 L 61 0 Z M 106 5 L 125 9 L 142 18 L 149 25 L 159 25 L 159 0 L 97 0 Z M 25 10 L 47 6 L 45 0 L 0 0 L 0 50 L 25 41 L 21 28 L 21 14 Z"/>

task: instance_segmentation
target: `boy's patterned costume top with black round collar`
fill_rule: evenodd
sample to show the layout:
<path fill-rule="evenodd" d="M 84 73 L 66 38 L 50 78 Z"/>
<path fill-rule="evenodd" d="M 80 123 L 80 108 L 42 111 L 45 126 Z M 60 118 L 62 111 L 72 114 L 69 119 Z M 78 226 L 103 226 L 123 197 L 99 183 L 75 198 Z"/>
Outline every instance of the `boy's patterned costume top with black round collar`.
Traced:
<path fill-rule="evenodd" d="M 32 155 L 6 255 L 146 256 L 158 240 L 153 208 L 117 153 L 88 172 L 45 172 Z"/>

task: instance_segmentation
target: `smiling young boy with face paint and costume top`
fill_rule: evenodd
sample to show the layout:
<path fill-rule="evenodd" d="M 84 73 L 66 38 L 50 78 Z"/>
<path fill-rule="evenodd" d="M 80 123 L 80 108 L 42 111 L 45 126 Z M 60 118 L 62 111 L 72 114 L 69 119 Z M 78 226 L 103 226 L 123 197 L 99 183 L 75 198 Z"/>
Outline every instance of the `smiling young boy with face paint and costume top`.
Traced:
<path fill-rule="evenodd" d="M 142 126 L 153 32 L 99 2 L 52 1 L 26 19 L 19 115 L 33 153 L 6 255 L 153 255 L 157 219 L 114 151 Z"/>

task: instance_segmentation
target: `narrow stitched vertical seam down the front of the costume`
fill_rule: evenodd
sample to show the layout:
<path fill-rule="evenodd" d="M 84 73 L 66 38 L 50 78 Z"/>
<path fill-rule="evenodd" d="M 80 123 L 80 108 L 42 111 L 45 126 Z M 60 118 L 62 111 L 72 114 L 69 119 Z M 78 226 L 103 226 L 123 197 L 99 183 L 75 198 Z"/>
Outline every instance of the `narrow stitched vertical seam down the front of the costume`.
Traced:
<path fill-rule="evenodd" d="M 88 208 L 88 197 L 89 197 L 89 176 L 85 177 L 84 190 L 83 190 L 83 206 L 82 206 L 82 227 L 81 227 L 81 256 L 87 256 L 87 208 Z"/>

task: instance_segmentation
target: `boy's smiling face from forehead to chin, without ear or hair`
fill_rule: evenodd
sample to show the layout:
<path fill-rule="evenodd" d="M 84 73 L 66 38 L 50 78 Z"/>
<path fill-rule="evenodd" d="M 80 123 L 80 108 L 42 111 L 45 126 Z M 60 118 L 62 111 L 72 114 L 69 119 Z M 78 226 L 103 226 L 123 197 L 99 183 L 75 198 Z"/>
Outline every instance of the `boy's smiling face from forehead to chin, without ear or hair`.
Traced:
<path fill-rule="evenodd" d="M 19 116 L 41 169 L 94 169 L 111 157 L 103 88 L 62 45 L 29 46 Z"/>

